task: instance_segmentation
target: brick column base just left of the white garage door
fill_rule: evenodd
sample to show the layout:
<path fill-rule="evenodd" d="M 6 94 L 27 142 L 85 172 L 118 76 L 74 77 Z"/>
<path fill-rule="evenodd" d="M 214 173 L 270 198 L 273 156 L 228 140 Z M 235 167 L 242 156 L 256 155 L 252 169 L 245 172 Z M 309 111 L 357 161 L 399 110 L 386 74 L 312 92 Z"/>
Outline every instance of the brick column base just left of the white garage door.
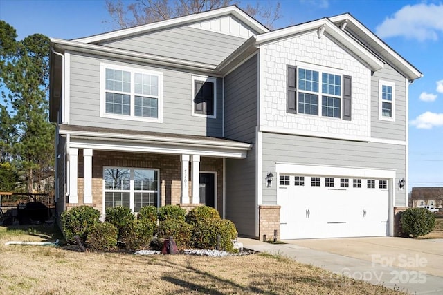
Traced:
<path fill-rule="evenodd" d="M 273 240 L 274 230 L 277 230 L 277 240 L 280 240 L 280 205 L 260 205 L 259 208 L 259 240 L 266 235 L 266 240 Z"/>

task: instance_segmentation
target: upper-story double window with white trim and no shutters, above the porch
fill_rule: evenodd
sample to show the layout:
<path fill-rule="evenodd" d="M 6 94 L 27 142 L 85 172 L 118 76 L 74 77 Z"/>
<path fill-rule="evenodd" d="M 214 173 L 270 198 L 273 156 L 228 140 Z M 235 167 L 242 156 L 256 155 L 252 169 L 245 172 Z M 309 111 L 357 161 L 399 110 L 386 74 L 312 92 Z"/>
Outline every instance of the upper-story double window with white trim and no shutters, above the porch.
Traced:
<path fill-rule="evenodd" d="M 100 75 L 102 117 L 161 122 L 161 73 L 101 64 Z"/>

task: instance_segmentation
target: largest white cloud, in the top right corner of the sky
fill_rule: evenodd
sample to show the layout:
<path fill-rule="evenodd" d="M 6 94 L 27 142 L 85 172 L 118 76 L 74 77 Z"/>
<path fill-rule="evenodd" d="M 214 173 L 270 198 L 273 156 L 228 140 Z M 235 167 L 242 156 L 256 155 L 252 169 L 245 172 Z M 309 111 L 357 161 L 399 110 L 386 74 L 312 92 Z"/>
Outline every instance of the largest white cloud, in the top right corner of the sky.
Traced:
<path fill-rule="evenodd" d="M 407 39 L 425 41 L 437 40 L 443 32 L 443 4 L 407 5 L 387 17 L 375 29 L 381 38 L 401 36 Z"/>

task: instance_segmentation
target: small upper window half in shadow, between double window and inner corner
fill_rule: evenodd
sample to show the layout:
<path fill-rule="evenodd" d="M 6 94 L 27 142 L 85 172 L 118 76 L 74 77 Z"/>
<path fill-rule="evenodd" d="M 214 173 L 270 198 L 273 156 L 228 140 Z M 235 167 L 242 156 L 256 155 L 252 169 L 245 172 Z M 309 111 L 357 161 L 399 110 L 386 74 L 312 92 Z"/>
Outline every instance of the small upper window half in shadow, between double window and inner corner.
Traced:
<path fill-rule="evenodd" d="M 192 77 L 192 115 L 217 117 L 217 79 Z"/>

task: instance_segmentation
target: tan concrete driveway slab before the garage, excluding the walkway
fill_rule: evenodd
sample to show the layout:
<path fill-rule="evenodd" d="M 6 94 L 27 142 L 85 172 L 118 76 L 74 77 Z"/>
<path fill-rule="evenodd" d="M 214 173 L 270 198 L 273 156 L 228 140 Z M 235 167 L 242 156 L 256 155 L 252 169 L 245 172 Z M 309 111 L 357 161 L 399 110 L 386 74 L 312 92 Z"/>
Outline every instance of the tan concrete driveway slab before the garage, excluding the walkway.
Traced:
<path fill-rule="evenodd" d="M 394 238 L 327 238 L 284 240 L 292 245 L 326 251 L 443 278 L 443 239 Z"/>

